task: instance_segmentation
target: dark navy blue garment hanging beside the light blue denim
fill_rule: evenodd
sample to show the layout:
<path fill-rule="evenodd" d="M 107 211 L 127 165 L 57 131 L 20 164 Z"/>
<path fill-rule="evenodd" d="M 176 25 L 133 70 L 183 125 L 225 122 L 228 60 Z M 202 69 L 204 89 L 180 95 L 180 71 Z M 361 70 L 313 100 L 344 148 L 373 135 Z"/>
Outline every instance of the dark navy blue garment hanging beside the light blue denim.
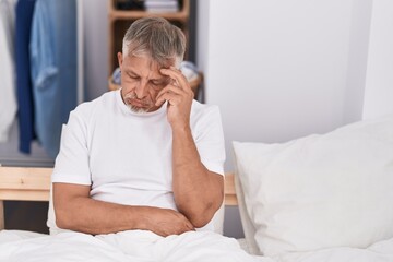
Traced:
<path fill-rule="evenodd" d="M 32 17 L 35 0 L 19 0 L 15 8 L 15 72 L 17 120 L 20 127 L 19 150 L 31 153 L 34 132 L 34 102 L 31 82 L 29 49 Z"/>

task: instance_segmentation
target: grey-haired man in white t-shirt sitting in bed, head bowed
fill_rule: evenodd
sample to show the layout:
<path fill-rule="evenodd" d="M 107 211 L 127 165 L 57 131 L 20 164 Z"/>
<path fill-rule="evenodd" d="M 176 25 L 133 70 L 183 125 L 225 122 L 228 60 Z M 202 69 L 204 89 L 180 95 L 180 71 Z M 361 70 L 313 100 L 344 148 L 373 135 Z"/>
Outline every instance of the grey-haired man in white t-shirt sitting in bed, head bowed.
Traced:
<path fill-rule="evenodd" d="M 164 19 L 127 31 L 122 88 L 80 105 L 63 127 L 52 175 L 58 227 L 120 242 L 131 254 L 140 239 L 213 229 L 223 130 L 218 108 L 193 100 L 178 69 L 184 49 L 182 32 Z"/>

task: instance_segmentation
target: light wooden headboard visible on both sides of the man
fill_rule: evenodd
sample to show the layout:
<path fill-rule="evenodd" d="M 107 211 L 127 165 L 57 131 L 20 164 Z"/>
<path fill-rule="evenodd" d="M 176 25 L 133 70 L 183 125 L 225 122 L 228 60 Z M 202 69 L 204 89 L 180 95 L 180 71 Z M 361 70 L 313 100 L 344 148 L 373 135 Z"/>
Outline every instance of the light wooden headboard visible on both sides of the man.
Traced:
<path fill-rule="evenodd" d="M 0 166 L 0 230 L 4 228 L 3 201 L 49 201 L 52 168 Z M 225 205 L 237 205 L 234 175 L 225 175 Z"/>

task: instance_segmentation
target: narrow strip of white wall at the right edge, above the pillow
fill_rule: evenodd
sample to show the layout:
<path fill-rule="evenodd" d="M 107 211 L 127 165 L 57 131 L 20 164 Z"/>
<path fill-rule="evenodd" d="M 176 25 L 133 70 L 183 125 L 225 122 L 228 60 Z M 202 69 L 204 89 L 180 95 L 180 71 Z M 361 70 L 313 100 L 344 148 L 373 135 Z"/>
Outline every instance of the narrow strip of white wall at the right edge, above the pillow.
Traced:
<path fill-rule="evenodd" d="M 364 118 L 393 114 L 393 1 L 373 1 Z"/>

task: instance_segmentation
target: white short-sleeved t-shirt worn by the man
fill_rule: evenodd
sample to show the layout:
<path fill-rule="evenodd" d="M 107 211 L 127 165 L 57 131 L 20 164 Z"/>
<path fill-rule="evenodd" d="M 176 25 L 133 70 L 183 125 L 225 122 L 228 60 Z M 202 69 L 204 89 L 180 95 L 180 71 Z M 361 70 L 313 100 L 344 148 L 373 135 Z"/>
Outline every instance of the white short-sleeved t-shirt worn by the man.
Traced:
<path fill-rule="evenodd" d="M 177 210 L 166 112 L 166 104 L 153 112 L 132 112 L 120 90 L 81 104 L 63 126 L 52 182 L 91 186 L 95 200 Z M 193 100 L 190 126 L 201 162 L 209 170 L 224 174 L 218 107 Z"/>

